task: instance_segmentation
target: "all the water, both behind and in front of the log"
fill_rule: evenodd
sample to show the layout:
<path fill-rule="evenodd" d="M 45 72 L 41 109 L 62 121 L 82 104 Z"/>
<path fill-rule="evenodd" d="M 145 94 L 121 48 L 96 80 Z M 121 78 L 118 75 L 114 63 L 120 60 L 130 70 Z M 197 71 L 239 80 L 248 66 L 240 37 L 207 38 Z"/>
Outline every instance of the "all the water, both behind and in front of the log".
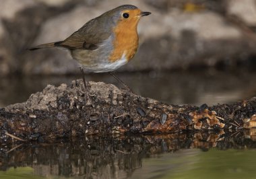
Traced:
<path fill-rule="evenodd" d="M 171 104 L 236 102 L 256 96 L 256 73 L 119 73 L 136 94 Z M 24 102 L 46 84 L 79 76 L 0 79 L 0 106 Z M 119 85 L 113 77 L 88 80 Z M 120 86 L 120 85 L 119 85 Z M 0 178 L 256 178 L 256 131 L 81 137 L 0 144 Z"/>

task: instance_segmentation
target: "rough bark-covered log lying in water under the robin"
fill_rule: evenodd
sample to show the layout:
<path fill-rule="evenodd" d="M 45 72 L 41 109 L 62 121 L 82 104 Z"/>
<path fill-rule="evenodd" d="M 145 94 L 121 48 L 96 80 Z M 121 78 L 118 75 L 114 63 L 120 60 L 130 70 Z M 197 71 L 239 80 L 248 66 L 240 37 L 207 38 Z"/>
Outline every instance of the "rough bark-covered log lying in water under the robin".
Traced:
<path fill-rule="evenodd" d="M 90 81 L 89 86 L 85 92 L 82 80 L 47 85 L 26 102 L 1 108 L 0 142 L 256 127 L 256 98 L 198 107 L 158 102 L 102 82 Z"/>

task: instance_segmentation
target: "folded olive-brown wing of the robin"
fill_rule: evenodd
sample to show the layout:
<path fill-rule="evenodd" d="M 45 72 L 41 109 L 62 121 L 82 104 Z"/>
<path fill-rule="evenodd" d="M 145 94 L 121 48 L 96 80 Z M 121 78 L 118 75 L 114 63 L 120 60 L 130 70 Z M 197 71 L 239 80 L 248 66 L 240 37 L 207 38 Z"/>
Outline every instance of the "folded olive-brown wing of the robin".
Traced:
<path fill-rule="evenodd" d="M 96 17 L 65 40 L 55 42 L 55 46 L 62 46 L 70 50 L 77 48 L 95 50 L 101 42 L 111 35 L 110 24 L 104 22 L 101 16 Z"/>

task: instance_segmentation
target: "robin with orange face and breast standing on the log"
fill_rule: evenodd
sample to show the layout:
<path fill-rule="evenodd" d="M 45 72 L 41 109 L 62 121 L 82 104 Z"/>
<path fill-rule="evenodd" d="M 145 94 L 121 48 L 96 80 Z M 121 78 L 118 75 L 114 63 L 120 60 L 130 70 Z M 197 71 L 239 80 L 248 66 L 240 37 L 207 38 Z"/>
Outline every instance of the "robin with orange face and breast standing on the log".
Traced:
<path fill-rule="evenodd" d="M 141 11 L 134 5 L 121 5 L 90 20 L 63 41 L 40 44 L 30 50 L 67 48 L 79 63 L 85 89 L 84 69 L 94 73 L 108 72 L 125 85 L 111 71 L 134 57 L 139 40 L 137 24 L 145 15 L 150 12 Z"/>

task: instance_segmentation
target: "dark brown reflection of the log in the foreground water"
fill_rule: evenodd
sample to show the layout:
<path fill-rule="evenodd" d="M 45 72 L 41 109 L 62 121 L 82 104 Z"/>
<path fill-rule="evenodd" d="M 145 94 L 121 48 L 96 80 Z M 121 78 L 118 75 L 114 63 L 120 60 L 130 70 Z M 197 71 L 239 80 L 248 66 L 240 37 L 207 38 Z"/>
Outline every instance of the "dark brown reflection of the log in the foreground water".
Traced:
<path fill-rule="evenodd" d="M 58 143 L 1 145 L 0 170 L 30 166 L 38 176 L 127 178 L 143 158 L 179 149 L 256 147 L 256 130 L 139 137 L 86 137 Z"/>

